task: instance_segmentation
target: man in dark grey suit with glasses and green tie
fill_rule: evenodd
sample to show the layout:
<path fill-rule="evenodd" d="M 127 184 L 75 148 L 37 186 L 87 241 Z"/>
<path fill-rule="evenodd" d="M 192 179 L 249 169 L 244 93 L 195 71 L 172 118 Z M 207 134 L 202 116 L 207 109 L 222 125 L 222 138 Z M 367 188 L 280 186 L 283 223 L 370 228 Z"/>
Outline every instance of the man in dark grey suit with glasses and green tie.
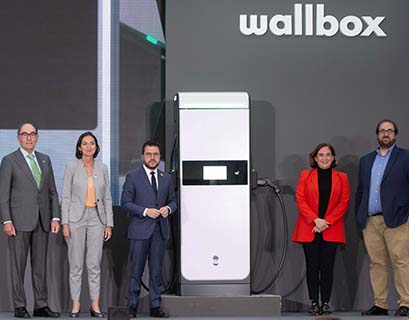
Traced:
<path fill-rule="evenodd" d="M 0 218 L 9 240 L 14 316 L 30 318 L 26 309 L 24 273 L 28 250 L 37 317 L 60 316 L 47 303 L 48 233 L 58 233 L 60 209 L 50 158 L 34 151 L 38 130 L 25 123 L 17 130 L 20 148 L 6 155 L 0 166 Z"/>

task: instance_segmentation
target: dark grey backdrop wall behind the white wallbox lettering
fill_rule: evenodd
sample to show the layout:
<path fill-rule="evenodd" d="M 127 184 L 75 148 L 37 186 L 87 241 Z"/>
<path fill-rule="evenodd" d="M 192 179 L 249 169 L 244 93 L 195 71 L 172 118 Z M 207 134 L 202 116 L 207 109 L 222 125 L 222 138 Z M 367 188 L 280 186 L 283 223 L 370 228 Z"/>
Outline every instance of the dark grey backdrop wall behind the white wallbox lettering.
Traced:
<path fill-rule="evenodd" d="M 270 31 L 245 36 L 240 14 L 293 15 L 294 3 L 325 4 L 325 14 L 385 16 L 387 37 L 282 36 Z M 252 167 L 282 189 L 289 221 L 284 235 L 276 198 L 265 189 L 251 195 L 254 289 L 273 275 L 284 241 L 290 241 L 297 210 L 294 190 L 320 142 L 335 146 L 355 201 L 358 159 L 376 147 L 375 125 L 392 118 L 401 126 L 398 143 L 409 146 L 409 2 L 168 0 L 166 1 L 166 98 L 171 136 L 172 98 L 178 91 L 248 91 L 251 97 Z M 365 23 L 364 23 L 365 26 Z M 169 144 L 168 144 L 169 146 Z M 368 258 L 351 208 L 347 244 L 335 265 L 332 304 L 336 309 L 372 305 Z M 310 303 L 300 245 L 289 243 L 284 270 L 269 293 L 283 296 L 284 310 Z M 390 291 L 391 308 L 396 292 Z"/>

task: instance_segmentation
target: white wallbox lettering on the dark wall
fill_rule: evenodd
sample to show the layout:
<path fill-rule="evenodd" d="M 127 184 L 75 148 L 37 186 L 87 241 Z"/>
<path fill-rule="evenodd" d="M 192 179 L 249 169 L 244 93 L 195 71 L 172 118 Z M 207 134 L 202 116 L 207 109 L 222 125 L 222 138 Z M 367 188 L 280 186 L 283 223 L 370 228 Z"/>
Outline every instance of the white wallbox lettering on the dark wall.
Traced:
<path fill-rule="evenodd" d="M 339 31 L 346 37 L 369 37 L 375 34 L 386 37 L 380 24 L 385 17 L 345 16 L 338 20 L 333 15 L 325 15 L 324 5 L 317 4 L 315 10 L 314 34 L 314 6 L 312 4 L 294 4 L 294 15 L 276 14 L 270 19 L 267 15 L 240 15 L 240 32 L 246 36 L 262 36 L 269 29 L 276 36 L 325 36 L 332 37 Z M 304 26 L 304 28 L 303 28 Z"/>

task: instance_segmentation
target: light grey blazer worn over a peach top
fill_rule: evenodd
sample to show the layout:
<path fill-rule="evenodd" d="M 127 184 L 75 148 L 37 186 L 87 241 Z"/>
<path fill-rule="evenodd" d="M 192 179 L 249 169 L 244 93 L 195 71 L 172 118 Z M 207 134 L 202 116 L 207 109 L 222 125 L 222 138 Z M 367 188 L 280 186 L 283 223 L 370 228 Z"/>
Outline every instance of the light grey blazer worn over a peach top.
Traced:
<path fill-rule="evenodd" d="M 101 222 L 114 226 L 112 199 L 109 184 L 108 167 L 94 160 L 94 185 L 97 197 L 97 211 Z M 81 159 L 67 163 L 61 196 L 62 224 L 78 222 L 85 210 L 87 171 Z"/>

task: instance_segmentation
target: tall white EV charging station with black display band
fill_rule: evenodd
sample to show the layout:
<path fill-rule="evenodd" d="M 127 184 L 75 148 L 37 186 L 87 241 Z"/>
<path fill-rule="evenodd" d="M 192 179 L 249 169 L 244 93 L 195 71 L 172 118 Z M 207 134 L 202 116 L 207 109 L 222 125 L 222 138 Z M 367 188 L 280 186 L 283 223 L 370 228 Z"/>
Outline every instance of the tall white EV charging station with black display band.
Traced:
<path fill-rule="evenodd" d="M 250 294 L 250 102 L 180 92 L 181 295 Z"/>

